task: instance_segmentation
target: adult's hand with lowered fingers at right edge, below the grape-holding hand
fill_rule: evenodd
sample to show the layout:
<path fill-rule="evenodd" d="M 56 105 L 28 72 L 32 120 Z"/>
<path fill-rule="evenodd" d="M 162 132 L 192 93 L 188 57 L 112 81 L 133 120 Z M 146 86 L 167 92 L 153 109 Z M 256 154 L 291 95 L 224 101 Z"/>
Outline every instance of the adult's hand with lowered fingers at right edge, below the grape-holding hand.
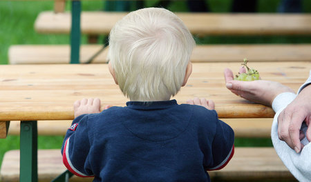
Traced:
<path fill-rule="evenodd" d="M 303 148 L 300 142 L 305 137 L 300 132 L 303 121 L 308 125 L 306 135 L 308 141 L 311 141 L 311 85 L 305 87 L 278 117 L 279 139 L 285 141 L 297 153 Z"/>

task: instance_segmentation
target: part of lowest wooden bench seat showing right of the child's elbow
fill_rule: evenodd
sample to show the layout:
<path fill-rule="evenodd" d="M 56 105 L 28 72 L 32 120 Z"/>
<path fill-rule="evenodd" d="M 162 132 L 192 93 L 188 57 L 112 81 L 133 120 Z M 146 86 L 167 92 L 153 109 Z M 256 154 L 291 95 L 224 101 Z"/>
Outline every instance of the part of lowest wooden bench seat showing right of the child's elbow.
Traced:
<path fill-rule="evenodd" d="M 274 148 L 235 148 L 227 166 L 209 174 L 218 181 L 295 180 Z"/>

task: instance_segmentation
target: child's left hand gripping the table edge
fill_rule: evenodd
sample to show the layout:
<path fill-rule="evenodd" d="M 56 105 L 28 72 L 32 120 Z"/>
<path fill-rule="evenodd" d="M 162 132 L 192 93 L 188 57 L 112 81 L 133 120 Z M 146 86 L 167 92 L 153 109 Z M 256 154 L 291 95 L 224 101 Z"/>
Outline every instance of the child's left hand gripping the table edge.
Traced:
<path fill-rule="evenodd" d="M 104 110 L 110 108 L 110 105 L 106 105 Z M 73 111 L 75 118 L 82 114 L 100 113 L 100 99 L 82 99 L 73 103 Z"/>

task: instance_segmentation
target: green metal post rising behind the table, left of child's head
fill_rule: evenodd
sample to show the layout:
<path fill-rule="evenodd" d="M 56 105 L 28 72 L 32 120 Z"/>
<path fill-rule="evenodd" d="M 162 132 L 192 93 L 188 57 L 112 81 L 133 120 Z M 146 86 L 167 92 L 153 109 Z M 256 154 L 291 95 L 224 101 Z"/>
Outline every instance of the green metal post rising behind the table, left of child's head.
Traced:
<path fill-rule="evenodd" d="M 71 3 L 71 32 L 70 32 L 70 63 L 79 63 L 80 52 L 80 17 L 81 17 L 81 2 L 73 0 Z"/>

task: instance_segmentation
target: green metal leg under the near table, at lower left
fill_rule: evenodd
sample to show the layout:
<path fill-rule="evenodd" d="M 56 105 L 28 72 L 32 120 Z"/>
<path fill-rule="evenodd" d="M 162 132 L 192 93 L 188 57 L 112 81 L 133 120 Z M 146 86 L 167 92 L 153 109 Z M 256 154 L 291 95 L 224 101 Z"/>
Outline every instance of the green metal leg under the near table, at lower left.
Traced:
<path fill-rule="evenodd" d="M 21 121 L 19 181 L 38 181 L 37 121 Z"/>

